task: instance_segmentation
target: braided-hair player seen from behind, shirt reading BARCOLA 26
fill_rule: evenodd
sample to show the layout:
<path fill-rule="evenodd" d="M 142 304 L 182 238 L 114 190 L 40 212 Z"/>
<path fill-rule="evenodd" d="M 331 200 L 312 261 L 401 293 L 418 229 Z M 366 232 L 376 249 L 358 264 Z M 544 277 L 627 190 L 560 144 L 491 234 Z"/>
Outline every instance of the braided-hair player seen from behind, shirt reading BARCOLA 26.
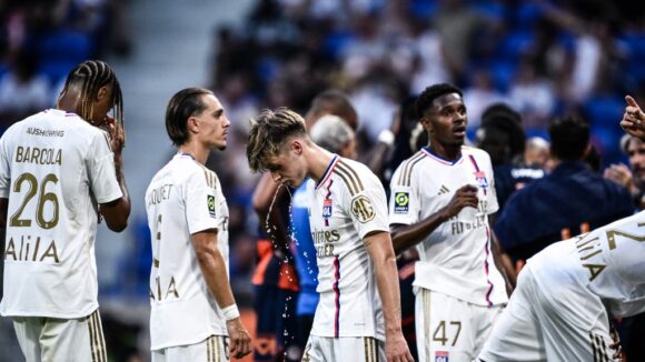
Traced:
<path fill-rule="evenodd" d="M 0 139 L 0 313 L 27 361 L 107 361 L 95 240 L 100 218 L 117 232 L 128 223 L 123 139 L 119 81 L 97 60 L 70 71 L 56 109 Z"/>

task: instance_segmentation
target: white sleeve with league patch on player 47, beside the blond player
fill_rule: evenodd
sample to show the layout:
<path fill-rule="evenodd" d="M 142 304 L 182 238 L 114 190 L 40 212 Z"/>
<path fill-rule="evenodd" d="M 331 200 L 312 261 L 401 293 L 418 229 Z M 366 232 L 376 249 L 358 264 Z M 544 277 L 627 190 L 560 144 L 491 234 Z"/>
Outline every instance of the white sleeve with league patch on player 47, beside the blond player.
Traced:
<path fill-rule="evenodd" d="M 404 161 L 394 172 L 390 181 L 389 197 L 389 224 L 410 225 L 419 221 L 419 194 L 415 190 L 416 172 L 409 170 L 409 174 L 404 175 L 407 170 L 407 162 Z"/>

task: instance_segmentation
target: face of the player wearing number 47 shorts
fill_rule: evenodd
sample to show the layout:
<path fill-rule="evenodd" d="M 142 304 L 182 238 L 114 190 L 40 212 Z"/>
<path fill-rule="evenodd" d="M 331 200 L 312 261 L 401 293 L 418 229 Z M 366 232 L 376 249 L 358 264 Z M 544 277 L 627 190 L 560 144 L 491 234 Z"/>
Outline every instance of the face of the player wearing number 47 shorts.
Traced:
<path fill-rule="evenodd" d="M 421 124 L 428 133 L 430 144 L 457 147 L 464 144 L 468 118 L 466 105 L 458 93 L 448 93 L 436 98 L 427 110 Z"/>

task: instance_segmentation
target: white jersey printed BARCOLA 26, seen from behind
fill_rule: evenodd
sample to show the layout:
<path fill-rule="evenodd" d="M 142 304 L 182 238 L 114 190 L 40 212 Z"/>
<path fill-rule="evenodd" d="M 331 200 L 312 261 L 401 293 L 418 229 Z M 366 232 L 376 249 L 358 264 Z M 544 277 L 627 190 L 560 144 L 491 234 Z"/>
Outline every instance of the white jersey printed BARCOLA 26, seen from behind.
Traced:
<path fill-rule="evenodd" d="M 2 315 L 76 319 L 98 308 L 98 203 L 122 197 L 108 134 L 49 109 L 0 140 L 9 199 Z"/>

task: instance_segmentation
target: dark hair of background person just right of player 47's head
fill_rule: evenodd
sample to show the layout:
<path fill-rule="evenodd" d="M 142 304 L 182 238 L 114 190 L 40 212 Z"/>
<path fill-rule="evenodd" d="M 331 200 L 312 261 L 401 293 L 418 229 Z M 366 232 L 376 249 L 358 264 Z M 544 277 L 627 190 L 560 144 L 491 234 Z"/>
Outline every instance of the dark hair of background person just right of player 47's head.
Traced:
<path fill-rule="evenodd" d="M 493 128 L 508 134 L 510 157 L 524 153 L 526 134 L 522 127 L 522 115 L 505 103 L 495 103 L 484 110 L 482 128 Z"/>

